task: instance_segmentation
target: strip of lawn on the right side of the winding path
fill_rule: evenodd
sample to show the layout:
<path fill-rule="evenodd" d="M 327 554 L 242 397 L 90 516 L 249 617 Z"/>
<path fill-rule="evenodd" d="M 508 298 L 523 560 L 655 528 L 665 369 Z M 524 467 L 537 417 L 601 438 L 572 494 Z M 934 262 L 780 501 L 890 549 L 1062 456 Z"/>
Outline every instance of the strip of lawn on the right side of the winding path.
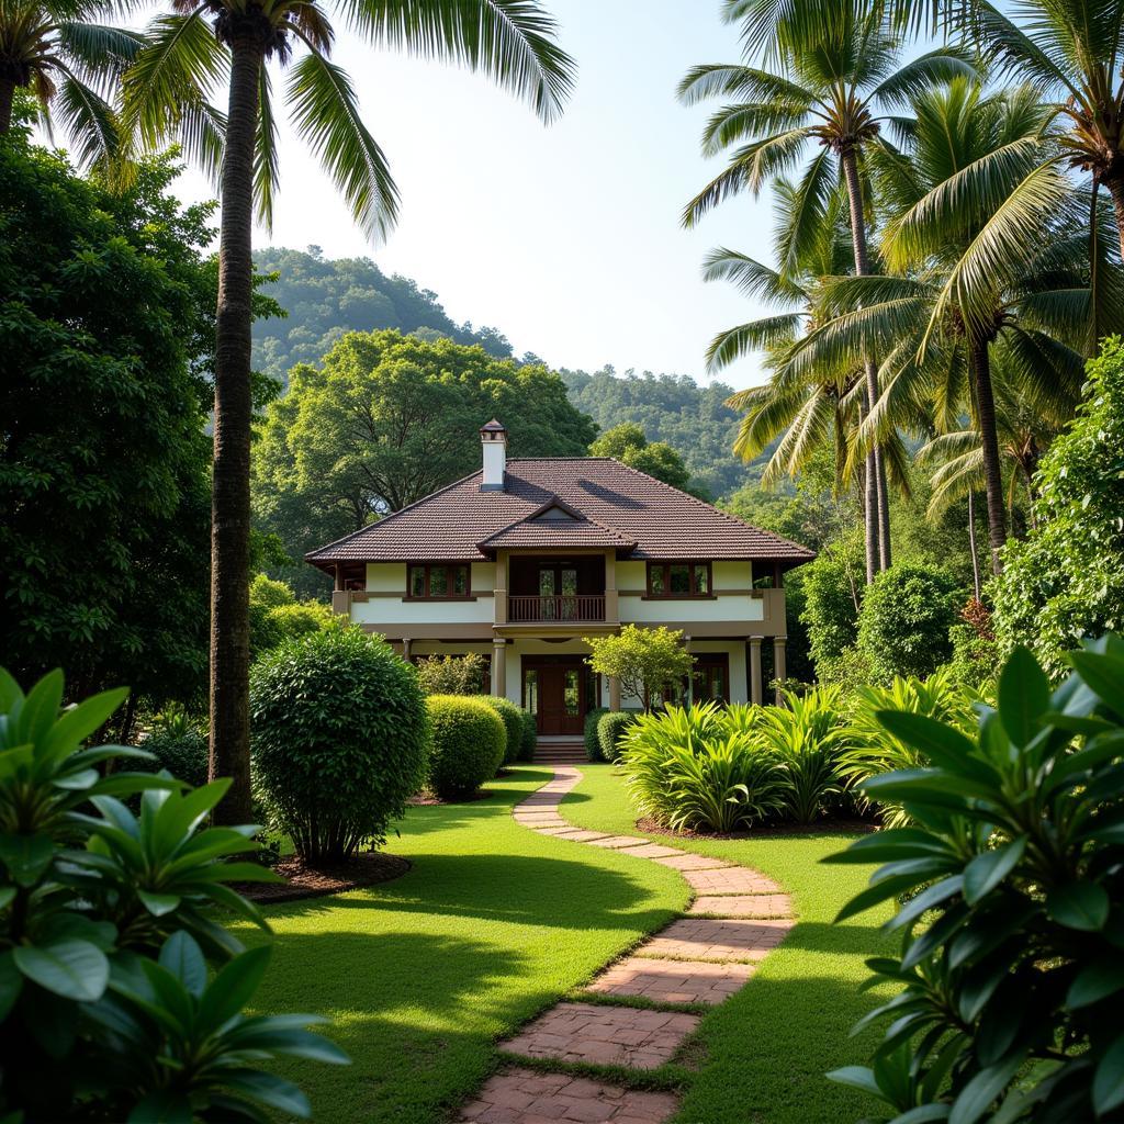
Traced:
<path fill-rule="evenodd" d="M 562 814 L 582 827 L 643 834 L 614 768 L 582 769 L 584 779 Z M 703 1064 L 685 1089 L 678 1124 L 844 1122 L 870 1112 L 872 1098 L 824 1078 L 827 1070 L 868 1060 L 880 1030 L 851 1039 L 851 1026 L 890 994 L 856 990 L 870 975 L 864 959 L 889 948 L 878 931 L 889 908 L 832 924 L 840 906 L 865 885 L 870 868 L 826 867 L 819 859 L 853 836 L 652 837 L 763 871 L 792 895 L 798 918 L 750 984 L 701 1023 L 696 1053 Z"/>

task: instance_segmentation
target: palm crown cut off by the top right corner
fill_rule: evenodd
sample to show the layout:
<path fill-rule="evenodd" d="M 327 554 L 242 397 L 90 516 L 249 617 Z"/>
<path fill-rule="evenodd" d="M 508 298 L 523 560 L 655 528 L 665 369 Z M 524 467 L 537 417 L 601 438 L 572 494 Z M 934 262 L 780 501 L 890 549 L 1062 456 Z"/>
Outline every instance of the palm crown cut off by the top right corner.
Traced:
<path fill-rule="evenodd" d="M 959 22 L 1053 99 L 1061 152 L 1051 158 L 1108 189 L 1124 256 L 1124 0 L 1017 0 L 1012 11 L 1017 24 L 971 0 Z"/>

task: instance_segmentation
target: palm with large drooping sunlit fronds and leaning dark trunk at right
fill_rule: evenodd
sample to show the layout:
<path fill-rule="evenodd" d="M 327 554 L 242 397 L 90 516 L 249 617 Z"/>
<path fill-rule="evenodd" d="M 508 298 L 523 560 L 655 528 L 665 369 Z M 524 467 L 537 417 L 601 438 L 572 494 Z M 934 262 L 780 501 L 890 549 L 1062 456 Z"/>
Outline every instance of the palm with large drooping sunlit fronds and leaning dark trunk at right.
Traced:
<path fill-rule="evenodd" d="M 914 110 L 906 149 L 882 149 L 874 169 L 891 216 L 882 253 L 898 274 L 825 279 L 823 320 L 786 365 L 795 375 L 881 348 L 868 441 L 918 411 L 936 432 L 962 428 L 967 406 L 998 572 L 1006 520 L 992 348 L 1004 348 L 1019 393 L 1072 401 L 1093 315 L 1087 246 L 1073 234 L 1076 211 L 1059 215 L 1064 178 L 1041 160 L 1049 109 L 1033 90 L 988 97 L 958 79 L 921 94 Z"/>

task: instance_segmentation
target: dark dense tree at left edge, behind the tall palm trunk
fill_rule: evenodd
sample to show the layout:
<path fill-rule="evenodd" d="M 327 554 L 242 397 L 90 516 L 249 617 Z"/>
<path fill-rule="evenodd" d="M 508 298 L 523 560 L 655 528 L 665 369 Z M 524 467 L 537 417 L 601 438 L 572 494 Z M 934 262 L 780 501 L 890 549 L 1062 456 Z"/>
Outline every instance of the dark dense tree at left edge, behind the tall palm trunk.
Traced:
<path fill-rule="evenodd" d="M 207 668 L 209 208 L 166 164 L 114 196 L 0 142 L 0 645 L 75 695 L 189 697 Z"/>

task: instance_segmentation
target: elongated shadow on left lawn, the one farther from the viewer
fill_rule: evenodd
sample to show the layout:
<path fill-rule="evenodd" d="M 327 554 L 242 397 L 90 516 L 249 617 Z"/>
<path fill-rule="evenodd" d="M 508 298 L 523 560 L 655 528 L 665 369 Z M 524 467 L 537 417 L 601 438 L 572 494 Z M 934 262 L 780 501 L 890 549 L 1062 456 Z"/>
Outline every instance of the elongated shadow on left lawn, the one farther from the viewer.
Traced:
<path fill-rule="evenodd" d="M 670 909 L 644 909 L 652 897 L 649 887 L 593 861 L 425 852 L 410 854 L 410 872 L 393 882 L 275 906 L 268 916 L 280 919 L 338 909 L 375 909 L 559 928 L 644 931 L 674 916 Z"/>

